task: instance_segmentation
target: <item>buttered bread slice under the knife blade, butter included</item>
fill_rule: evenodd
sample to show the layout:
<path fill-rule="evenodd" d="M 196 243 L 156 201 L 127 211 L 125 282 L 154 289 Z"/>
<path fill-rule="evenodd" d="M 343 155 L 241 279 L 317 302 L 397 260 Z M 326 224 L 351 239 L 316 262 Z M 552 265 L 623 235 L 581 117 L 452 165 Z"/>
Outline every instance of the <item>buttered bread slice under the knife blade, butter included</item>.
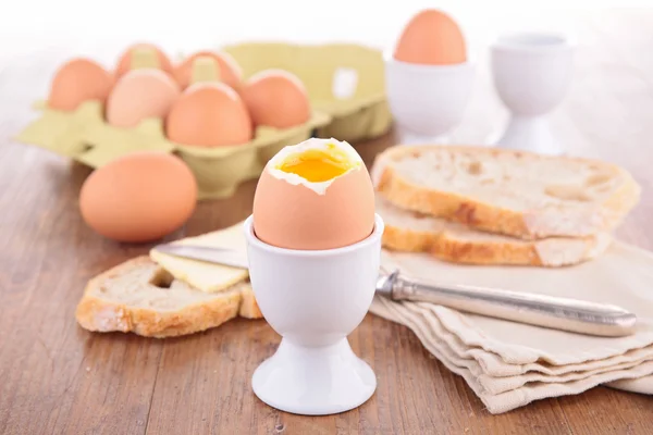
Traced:
<path fill-rule="evenodd" d="M 244 249 L 242 226 L 180 244 Z M 82 327 L 173 337 L 206 331 L 236 316 L 261 319 L 245 270 L 152 250 L 90 279 L 77 304 Z"/>

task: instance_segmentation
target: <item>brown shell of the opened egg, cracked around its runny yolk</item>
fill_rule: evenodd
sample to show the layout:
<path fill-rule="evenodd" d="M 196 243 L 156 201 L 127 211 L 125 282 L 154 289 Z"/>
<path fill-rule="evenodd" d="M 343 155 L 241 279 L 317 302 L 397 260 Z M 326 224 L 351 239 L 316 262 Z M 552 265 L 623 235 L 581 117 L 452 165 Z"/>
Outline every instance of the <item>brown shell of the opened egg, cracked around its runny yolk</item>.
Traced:
<path fill-rule="evenodd" d="M 324 139 L 309 139 L 295 147 L 324 142 L 348 147 L 360 164 L 329 182 L 310 183 L 275 169 L 294 147 L 282 149 L 266 166 L 254 197 L 254 229 L 263 243 L 285 249 L 335 249 L 372 233 L 374 190 L 354 148 Z"/>

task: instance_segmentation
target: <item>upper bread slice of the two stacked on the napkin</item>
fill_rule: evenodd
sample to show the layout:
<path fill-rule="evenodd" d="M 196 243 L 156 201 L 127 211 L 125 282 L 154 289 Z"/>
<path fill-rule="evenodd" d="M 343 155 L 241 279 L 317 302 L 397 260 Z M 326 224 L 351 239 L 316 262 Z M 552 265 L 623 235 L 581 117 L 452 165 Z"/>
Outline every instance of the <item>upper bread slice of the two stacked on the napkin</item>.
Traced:
<path fill-rule="evenodd" d="M 484 147 L 393 147 L 372 178 L 395 206 L 523 239 L 611 232 L 640 195 L 613 164 Z"/>

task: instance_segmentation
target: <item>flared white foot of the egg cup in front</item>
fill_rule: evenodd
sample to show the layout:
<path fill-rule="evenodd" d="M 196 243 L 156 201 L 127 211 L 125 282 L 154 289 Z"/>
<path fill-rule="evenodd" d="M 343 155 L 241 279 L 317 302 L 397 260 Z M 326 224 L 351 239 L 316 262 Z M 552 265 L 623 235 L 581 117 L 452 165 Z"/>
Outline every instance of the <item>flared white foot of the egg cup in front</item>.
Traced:
<path fill-rule="evenodd" d="M 324 347 L 284 338 L 255 371 L 251 387 L 261 401 L 281 411 L 328 415 L 365 403 L 377 389 L 377 376 L 347 338 Z"/>

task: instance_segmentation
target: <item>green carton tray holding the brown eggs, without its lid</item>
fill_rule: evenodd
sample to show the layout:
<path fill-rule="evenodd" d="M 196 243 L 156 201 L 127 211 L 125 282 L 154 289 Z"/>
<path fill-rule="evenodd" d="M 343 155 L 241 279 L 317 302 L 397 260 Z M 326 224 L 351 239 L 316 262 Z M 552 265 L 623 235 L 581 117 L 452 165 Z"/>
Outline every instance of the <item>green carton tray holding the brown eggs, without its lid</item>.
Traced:
<path fill-rule="evenodd" d="M 331 116 L 313 111 L 304 124 L 278 129 L 259 126 L 247 144 L 214 148 L 181 145 L 165 137 L 162 119 L 147 119 L 132 128 L 115 127 L 104 122 L 100 101 L 85 101 L 74 112 L 35 103 L 40 116 L 28 124 L 16 140 L 32 144 L 91 167 L 134 151 L 159 150 L 177 154 L 197 179 L 198 199 L 225 198 L 238 185 L 257 178 L 272 156 L 287 145 L 295 145 L 325 126 Z"/>

